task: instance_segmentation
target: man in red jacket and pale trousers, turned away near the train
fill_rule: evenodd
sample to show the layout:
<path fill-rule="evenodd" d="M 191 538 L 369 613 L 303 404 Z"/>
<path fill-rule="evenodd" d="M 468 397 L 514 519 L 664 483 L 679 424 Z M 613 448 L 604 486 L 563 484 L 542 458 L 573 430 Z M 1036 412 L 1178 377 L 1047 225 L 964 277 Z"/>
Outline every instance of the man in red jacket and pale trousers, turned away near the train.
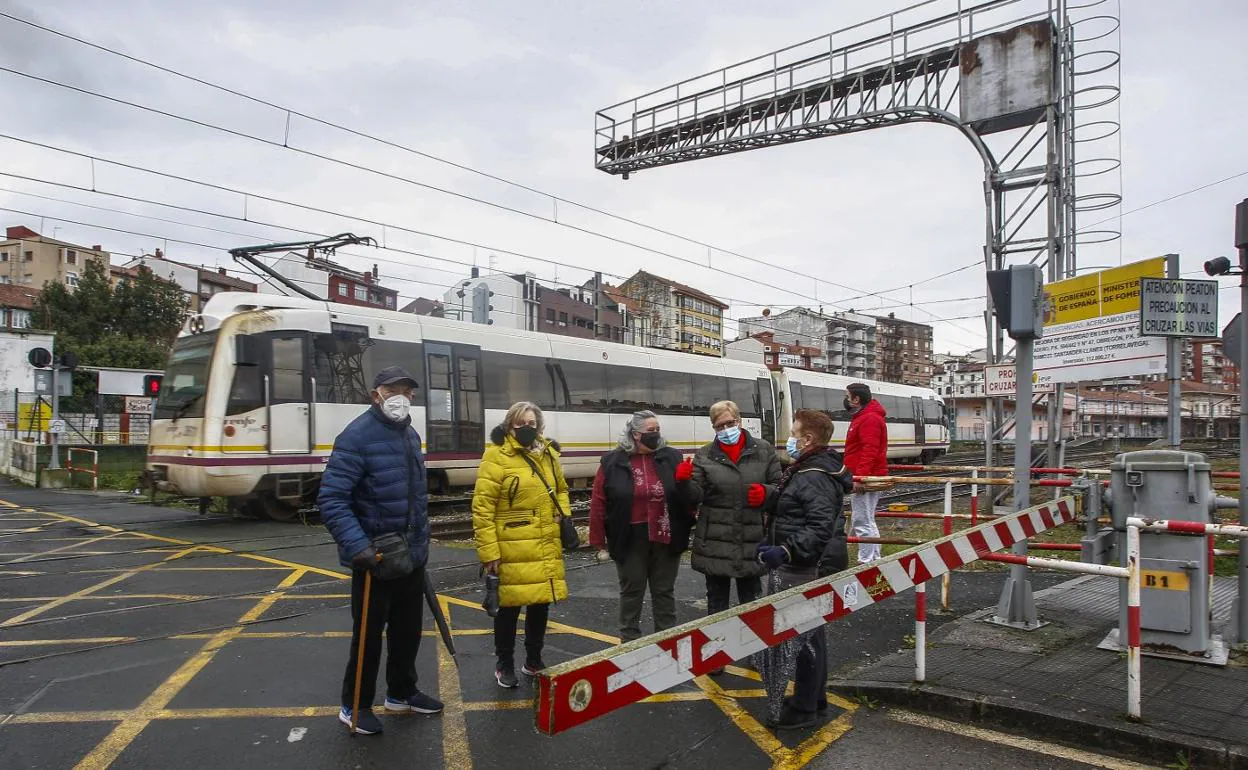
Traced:
<path fill-rule="evenodd" d="M 871 388 L 856 382 L 846 388 L 845 408 L 854 417 L 850 431 L 845 436 L 845 467 L 860 475 L 889 474 L 889 424 L 884 406 L 871 397 Z M 880 504 L 880 493 L 869 492 L 862 484 L 854 484 L 850 507 L 854 510 L 854 527 L 850 534 L 856 538 L 879 538 L 880 528 L 875 523 L 875 509 Z M 859 564 L 875 562 L 880 558 L 877 543 L 859 544 Z"/>

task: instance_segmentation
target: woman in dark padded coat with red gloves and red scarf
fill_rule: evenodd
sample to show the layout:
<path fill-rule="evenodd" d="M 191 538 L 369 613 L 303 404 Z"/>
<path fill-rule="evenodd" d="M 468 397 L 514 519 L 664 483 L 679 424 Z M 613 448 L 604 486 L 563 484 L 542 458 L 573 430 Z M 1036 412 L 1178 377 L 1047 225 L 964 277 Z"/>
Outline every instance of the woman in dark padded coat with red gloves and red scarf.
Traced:
<path fill-rule="evenodd" d="M 710 422 L 715 439 L 676 469 L 676 480 L 701 505 L 693 568 L 706 577 L 706 613 L 714 615 L 731 604 L 734 579 L 740 604 L 763 593 L 755 552 L 763 542 L 768 487 L 774 490 L 780 483 L 780 458 L 741 428 L 741 411 L 731 401 L 711 406 Z"/>

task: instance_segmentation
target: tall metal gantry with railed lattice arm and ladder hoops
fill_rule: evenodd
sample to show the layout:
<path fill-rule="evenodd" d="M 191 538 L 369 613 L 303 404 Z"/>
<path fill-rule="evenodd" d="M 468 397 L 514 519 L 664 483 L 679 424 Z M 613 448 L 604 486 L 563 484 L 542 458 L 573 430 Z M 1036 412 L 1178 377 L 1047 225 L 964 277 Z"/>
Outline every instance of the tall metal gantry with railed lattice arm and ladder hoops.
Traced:
<path fill-rule="evenodd" d="M 599 110 L 594 163 L 628 178 L 885 126 L 950 126 L 983 163 L 985 268 L 1040 263 L 1057 281 L 1076 273 L 1077 246 L 1121 237 L 1076 227 L 1080 213 L 1121 206 L 1119 124 L 1098 114 L 1121 92 L 1117 30 L 1111 0 L 917 2 Z M 991 300 L 983 318 L 996 363 L 1007 351 Z M 1051 462 L 1063 398 L 1050 398 Z M 993 399 L 990 467 L 1003 417 Z M 1030 462 L 1026 438 L 1016 453 Z"/>

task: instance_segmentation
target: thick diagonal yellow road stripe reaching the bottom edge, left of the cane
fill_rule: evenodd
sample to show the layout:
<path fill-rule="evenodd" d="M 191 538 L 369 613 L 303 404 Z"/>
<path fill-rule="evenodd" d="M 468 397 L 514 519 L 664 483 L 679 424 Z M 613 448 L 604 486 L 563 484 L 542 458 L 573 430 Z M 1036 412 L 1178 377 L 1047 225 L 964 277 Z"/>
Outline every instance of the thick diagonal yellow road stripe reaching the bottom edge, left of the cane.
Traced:
<path fill-rule="evenodd" d="M 238 625 L 218 631 L 212 639 L 206 641 L 200 651 L 183 663 L 173 674 L 161 683 L 121 724 L 96 745 L 82 761 L 76 765 L 76 770 L 96 770 L 110 766 L 126 748 L 134 743 L 139 734 L 147 729 L 155 715 L 168 706 L 178 693 L 186 688 L 191 680 L 203 670 L 221 649 L 230 644 L 243 631 L 245 624 L 258 620 L 281 597 L 282 593 L 300 582 L 307 570 L 295 570 L 277 584 L 275 593 L 265 597 L 248 609 L 238 619 Z"/>

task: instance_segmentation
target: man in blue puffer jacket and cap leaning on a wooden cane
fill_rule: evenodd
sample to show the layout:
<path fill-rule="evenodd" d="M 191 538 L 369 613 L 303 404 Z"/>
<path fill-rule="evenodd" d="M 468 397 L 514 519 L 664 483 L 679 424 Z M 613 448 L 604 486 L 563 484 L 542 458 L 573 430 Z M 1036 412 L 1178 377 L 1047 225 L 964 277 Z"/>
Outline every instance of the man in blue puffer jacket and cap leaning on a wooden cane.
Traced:
<path fill-rule="evenodd" d="M 321 519 L 338 544 L 338 560 L 351 575 L 351 660 L 342 679 L 338 720 L 348 728 L 356 696 L 356 661 L 363 631 L 364 660 L 356 733 L 374 735 L 382 723 L 373 714 L 382 630 L 387 633 L 387 713 L 438 714 L 442 704 L 416 686 L 416 654 L 421 649 L 424 564 L 429 558 L 428 487 L 421 436 L 409 411 L 416 379 L 399 367 L 382 369 L 373 381 L 372 407 L 357 417 L 333 443 L 321 479 Z M 377 569 L 373 540 L 391 533 L 407 539 L 414 569 L 403 577 L 372 580 L 368 628 L 359 628 L 364 575 Z M 399 548 L 402 554 L 402 548 Z"/>

